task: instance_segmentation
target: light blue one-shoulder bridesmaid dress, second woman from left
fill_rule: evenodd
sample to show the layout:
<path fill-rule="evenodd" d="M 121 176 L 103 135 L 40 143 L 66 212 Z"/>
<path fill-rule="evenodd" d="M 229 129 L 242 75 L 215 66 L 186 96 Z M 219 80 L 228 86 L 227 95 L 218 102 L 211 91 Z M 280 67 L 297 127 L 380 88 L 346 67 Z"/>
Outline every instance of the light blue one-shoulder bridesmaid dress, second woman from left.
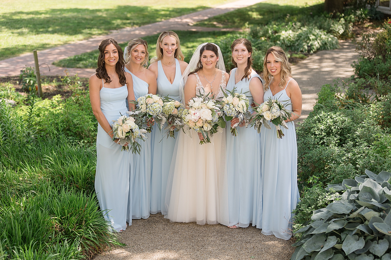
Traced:
<path fill-rule="evenodd" d="M 148 83 L 131 73 L 126 67 L 125 71 L 132 75 L 133 92 L 136 100 L 148 94 Z M 140 154 L 132 154 L 133 165 L 130 167 L 129 201 L 127 203 L 127 222 L 132 219 L 148 218 L 151 212 L 151 134 L 145 133 L 145 141 L 140 140 Z"/>

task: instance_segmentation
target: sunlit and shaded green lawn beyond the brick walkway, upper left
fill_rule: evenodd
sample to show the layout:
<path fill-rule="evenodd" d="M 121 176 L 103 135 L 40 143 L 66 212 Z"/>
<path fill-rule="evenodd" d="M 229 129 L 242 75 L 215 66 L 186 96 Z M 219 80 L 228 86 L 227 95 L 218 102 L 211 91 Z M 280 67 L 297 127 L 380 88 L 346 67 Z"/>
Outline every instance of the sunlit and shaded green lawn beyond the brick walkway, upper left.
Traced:
<path fill-rule="evenodd" d="M 232 1 L 181 0 L 173 5 L 168 0 L 5 0 L 0 9 L 0 60 Z"/>

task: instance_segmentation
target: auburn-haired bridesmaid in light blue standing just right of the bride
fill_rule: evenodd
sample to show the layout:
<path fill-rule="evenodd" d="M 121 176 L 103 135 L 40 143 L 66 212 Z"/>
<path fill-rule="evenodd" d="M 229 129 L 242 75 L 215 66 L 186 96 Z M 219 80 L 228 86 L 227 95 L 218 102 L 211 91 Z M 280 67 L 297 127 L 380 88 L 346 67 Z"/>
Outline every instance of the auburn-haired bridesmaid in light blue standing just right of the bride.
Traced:
<path fill-rule="evenodd" d="M 227 89 L 246 93 L 249 103 L 263 103 L 264 90 L 262 79 L 252 69 L 253 48 L 248 39 L 236 39 L 231 45 L 232 63 Z M 253 112 L 251 106 L 250 111 Z M 237 136 L 230 133 L 230 127 L 239 123 L 238 118 L 227 122 L 227 176 L 228 208 L 230 228 L 246 228 L 250 223 L 255 226 L 257 184 L 261 182 L 260 135 L 252 127 L 237 127 Z M 262 192 L 262 190 L 258 191 Z"/>

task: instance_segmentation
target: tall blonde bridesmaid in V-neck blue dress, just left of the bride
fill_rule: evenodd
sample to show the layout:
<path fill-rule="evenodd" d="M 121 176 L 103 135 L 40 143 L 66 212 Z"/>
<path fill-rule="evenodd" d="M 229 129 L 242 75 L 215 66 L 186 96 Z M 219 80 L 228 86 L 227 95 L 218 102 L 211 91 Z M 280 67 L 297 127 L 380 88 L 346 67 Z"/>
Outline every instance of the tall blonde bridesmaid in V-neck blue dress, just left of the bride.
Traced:
<path fill-rule="evenodd" d="M 179 87 L 182 81 L 182 74 L 187 67 L 183 61 L 179 37 L 175 32 L 167 31 L 159 35 L 156 43 L 156 58 L 151 59 L 149 70 L 156 75 L 158 81 L 157 93 L 161 97 L 169 96 L 180 101 Z M 172 155 L 174 153 L 174 138 L 164 134 L 167 130 L 161 131 L 158 127 L 152 130 L 152 176 L 151 176 L 151 214 L 161 212 L 167 214 L 164 202 L 166 197 L 167 179 L 169 177 Z"/>

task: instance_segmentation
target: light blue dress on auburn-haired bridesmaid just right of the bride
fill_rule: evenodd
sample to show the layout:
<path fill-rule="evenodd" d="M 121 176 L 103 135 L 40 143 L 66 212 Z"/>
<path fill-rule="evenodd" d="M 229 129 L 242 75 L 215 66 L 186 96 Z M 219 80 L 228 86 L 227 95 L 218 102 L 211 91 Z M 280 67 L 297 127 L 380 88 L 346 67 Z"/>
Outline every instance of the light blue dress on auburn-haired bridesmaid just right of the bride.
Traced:
<path fill-rule="evenodd" d="M 251 78 L 244 78 L 235 85 L 235 71 L 231 72 L 227 89 L 236 87 L 237 93 L 247 92 L 249 104 L 253 103 L 253 97 L 249 89 L 250 80 L 260 78 L 255 72 L 251 72 Z M 261 79 L 262 81 L 262 79 Z M 228 94 L 228 93 L 227 93 Z M 250 111 L 251 106 L 249 106 Z M 228 209 L 230 226 L 238 225 L 246 228 L 250 223 L 255 226 L 256 221 L 256 197 L 261 182 L 261 149 L 260 134 L 249 127 L 236 127 L 237 136 L 231 134 L 231 121 L 227 122 L 226 145 L 227 145 L 227 177 L 228 177 Z"/>

